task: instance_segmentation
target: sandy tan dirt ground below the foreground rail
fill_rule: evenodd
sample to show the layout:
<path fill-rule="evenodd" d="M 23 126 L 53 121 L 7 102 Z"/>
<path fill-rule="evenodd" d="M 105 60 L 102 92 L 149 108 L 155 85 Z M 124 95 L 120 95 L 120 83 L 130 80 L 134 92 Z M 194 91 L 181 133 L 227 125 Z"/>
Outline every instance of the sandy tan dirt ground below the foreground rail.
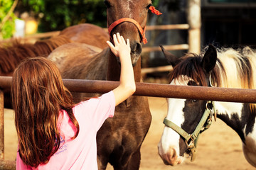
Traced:
<path fill-rule="evenodd" d="M 152 123 L 149 133 L 142 145 L 141 170 L 153 169 L 194 169 L 194 170 L 224 170 L 224 169 L 255 169 L 247 161 L 242 153 L 242 142 L 238 135 L 221 120 L 217 119 L 210 129 L 204 132 L 198 140 L 198 155 L 195 162 L 187 159 L 177 166 L 166 166 L 157 152 L 157 144 L 164 129 L 162 123 L 167 111 L 167 103 L 164 98 L 149 98 Z M 4 113 L 4 142 L 5 159 L 15 160 L 17 137 L 14 127 L 14 113 L 5 109 Z M 108 167 L 111 170 L 112 167 Z"/>

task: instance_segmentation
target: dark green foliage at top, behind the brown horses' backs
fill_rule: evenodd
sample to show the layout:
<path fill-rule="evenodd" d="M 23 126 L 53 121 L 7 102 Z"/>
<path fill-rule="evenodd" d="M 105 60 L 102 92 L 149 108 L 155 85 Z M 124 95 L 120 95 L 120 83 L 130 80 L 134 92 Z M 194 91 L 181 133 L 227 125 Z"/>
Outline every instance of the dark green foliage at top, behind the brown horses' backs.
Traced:
<path fill-rule="evenodd" d="M 107 13 L 103 0 L 23 0 L 19 11 L 33 11 L 42 16 L 39 31 L 63 30 L 78 23 L 107 26 Z"/>

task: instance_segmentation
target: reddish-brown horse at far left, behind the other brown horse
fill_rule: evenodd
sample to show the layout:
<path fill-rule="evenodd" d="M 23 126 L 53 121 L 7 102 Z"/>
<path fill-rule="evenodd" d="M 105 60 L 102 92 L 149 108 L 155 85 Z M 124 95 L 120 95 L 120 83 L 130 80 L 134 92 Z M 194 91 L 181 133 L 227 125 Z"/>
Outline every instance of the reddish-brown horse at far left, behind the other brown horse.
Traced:
<path fill-rule="evenodd" d="M 105 41 L 109 35 L 103 28 L 89 23 L 70 26 L 60 35 L 36 43 L 21 43 L 14 40 L 0 46 L 0 76 L 12 76 L 14 69 L 26 57 L 48 56 L 55 48 L 70 42 L 81 42 L 95 45 L 101 50 L 107 47 Z M 99 50 L 99 49 L 98 49 Z M 11 107 L 9 91 L 4 91 L 4 107 Z"/>

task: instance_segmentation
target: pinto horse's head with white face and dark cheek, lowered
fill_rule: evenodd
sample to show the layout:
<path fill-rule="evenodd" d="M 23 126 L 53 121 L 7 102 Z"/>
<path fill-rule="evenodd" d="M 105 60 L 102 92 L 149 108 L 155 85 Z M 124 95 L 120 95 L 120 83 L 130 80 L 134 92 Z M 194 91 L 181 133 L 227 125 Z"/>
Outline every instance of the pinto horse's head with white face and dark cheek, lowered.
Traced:
<path fill-rule="evenodd" d="M 171 84 L 183 86 L 208 86 L 210 74 L 214 74 L 217 60 L 215 47 L 210 45 L 202 56 L 186 55 L 176 58 L 164 50 L 164 55 L 170 64 L 174 66 L 171 72 Z M 187 134 L 193 134 L 206 110 L 206 102 L 193 99 L 168 98 L 168 113 L 166 120 L 183 129 Z M 194 144 L 196 145 L 196 143 Z M 164 164 L 181 164 L 185 154 L 191 154 L 188 149 L 188 141 L 176 131 L 165 126 L 163 135 L 158 145 L 159 155 Z"/>

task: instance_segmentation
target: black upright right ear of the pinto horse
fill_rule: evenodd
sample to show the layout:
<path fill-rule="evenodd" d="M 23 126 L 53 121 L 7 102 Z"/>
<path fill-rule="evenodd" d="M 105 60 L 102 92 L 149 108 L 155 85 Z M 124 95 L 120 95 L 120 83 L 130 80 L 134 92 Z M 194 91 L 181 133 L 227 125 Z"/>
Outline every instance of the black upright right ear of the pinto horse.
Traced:
<path fill-rule="evenodd" d="M 209 45 L 208 50 L 203 56 L 201 66 L 203 67 L 204 71 L 207 74 L 209 74 L 215 67 L 216 62 L 217 62 L 217 50 L 213 45 Z"/>

